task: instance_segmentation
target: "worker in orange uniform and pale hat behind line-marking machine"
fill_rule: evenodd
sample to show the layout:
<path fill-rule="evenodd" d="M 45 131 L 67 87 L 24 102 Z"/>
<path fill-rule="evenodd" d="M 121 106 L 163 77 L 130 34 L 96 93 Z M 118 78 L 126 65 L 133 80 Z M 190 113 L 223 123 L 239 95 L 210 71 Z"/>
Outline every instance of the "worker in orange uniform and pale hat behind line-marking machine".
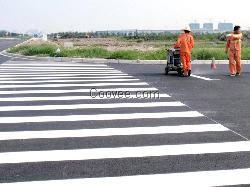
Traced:
<path fill-rule="evenodd" d="M 194 37 L 189 26 L 183 29 L 183 31 L 184 33 L 179 36 L 174 48 L 180 48 L 184 76 L 188 77 L 191 74 L 191 53 L 194 48 Z"/>

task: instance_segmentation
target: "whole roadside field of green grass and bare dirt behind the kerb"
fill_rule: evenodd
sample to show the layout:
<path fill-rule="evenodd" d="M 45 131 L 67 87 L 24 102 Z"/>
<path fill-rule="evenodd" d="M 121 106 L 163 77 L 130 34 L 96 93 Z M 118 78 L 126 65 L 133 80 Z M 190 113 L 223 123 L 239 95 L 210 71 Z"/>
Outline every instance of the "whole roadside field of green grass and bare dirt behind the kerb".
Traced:
<path fill-rule="evenodd" d="M 227 59 L 224 52 L 224 34 L 196 34 L 196 46 L 192 58 L 195 60 Z M 82 57 L 128 60 L 165 60 L 166 49 L 171 48 L 177 38 L 175 34 L 143 36 L 109 36 L 105 40 L 98 38 L 71 38 L 74 35 L 63 35 L 66 39 L 51 39 L 48 43 L 28 43 L 9 50 L 26 56 Z M 86 35 L 82 35 L 84 37 Z M 245 34 L 242 59 L 250 60 L 250 35 Z M 51 36 L 50 36 L 51 37 Z M 73 48 L 64 48 L 64 42 L 74 43 Z M 100 42 L 101 41 L 101 42 Z M 60 48 L 60 53 L 56 50 Z"/>

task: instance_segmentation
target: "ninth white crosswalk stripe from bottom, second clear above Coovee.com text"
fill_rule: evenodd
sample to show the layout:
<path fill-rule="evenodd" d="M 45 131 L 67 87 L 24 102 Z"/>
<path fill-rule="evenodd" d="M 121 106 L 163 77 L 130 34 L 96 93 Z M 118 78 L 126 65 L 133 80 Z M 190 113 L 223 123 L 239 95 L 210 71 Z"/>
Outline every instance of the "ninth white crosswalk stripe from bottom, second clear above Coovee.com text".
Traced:
<path fill-rule="evenodd" d="M 140 79 L 81 79 L 81 80 L 40 80 L 40 81 L 1 81 L 0 84 L 36 84 L 36 83 L 64 83 L 64 82 L 130 82 L 130 81 L 140 81 Z"/>

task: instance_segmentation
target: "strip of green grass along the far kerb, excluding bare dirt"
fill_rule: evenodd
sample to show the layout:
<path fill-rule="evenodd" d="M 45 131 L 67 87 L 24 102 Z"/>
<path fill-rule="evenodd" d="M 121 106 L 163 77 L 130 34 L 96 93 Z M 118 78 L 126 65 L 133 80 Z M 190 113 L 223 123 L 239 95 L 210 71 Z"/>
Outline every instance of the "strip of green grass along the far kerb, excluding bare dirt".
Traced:
<path fill-rule="evenodd" d="M 166 45 L 166 48 L 170 46 Z M 211 44 L 199 43 L 193 50 L 192 58 L 197 60 L 226 60 L 227 55 L 224 52 L 224 43 Z M 51 44 L 41 45 L 21 45 L 13 47 L 10 53 L 19 53 L 26 56 L 60 56 L 60 57 L 82 57 L 82 58 L 106 58 L 106 59 L 127 59 L 127 60 L 165 60 L 166 50 L 164 48 L 157 51 L 137 51 L 137 50 L 119 50 L 108 51 L 102 47 L 90 48 L 61 48 L 61 53 L 56 54 L 57 46 Z M 250 46 L 245 45 L 242 51 L 242 59 L 250 60 Z"/>

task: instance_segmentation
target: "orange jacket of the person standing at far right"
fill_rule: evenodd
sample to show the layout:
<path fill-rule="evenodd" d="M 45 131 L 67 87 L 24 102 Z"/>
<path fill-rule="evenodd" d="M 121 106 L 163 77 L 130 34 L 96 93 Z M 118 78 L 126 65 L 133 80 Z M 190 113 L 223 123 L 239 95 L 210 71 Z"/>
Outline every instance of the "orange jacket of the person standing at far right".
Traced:
<path fill-rule="evenodd" d="M 241 51 L 242 38 L 242 34 L 232 33 L 227 39 L 226 50 L 230 49 L 230 51 Z"/>

